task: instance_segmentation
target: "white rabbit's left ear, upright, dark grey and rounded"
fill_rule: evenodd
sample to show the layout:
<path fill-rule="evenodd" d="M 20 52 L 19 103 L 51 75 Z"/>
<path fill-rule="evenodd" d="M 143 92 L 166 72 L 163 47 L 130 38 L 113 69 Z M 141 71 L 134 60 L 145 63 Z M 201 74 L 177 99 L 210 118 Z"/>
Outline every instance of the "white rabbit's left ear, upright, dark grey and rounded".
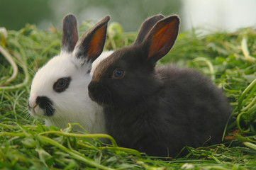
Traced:
<path fill-rule="evenodd" d="M 69 14 L 65 16 L 62 29 L 62 51 L 73 52 L 78 40 L 77 19 L 74 15 Z"/>

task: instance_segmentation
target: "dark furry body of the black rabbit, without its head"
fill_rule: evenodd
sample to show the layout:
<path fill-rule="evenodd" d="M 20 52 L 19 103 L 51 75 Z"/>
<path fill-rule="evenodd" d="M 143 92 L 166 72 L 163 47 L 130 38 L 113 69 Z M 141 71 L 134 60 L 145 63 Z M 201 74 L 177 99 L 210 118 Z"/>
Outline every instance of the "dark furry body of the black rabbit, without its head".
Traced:
<path fill-rule="evenodd" d="M 221 143 L 230 108 L 211 80 L 175 66 L 157 68 L 155 74 L 152 94 L 127 101 L 125 108 L 104 107 L 108 134 L 118 145 L 167 157 L 185 146 Z"/>

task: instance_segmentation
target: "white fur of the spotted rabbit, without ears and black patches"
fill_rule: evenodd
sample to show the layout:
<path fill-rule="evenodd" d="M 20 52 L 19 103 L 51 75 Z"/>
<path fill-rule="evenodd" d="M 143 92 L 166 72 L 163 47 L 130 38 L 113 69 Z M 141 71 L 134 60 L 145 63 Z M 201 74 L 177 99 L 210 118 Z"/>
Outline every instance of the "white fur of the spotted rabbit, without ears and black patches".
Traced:
<path fill-rule="evenodd" d="M 91 75 L 101 60 L 108 57 L 111 52 L 103 52 L 94 61 L 92 66 L 84 64 L 74 57 L 76 50 L 72 53 L 61 52 L 52 58 L 45 66 L 40 68 L 32 81 L 30 107 L 35 107 L 35 100 L 38 96 L 47 96 L 53 101 L 55 113 L 52 116 L 45 116 L 43 110 L 36 106 L 30 114 L 45 119 L 45 125 L 66 128 L 67 123 L 79 123 L 90 133 L 106 133 L 105 120 L 101 106 L 96 104 L 88 96 L 89 82 Z M 87 74 L 91 68 L 91 73 Z M 57 93 L 52 86 L 62 77 L 71 77 L 69 87 Z M 75 130 L 81 130 L 74 126 Z"/>

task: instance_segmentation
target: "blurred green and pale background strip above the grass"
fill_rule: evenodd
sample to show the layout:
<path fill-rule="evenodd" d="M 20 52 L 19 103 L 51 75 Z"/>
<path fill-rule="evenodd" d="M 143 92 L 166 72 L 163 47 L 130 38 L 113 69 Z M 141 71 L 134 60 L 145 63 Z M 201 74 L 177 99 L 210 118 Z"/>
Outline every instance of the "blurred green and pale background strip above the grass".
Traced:
<path fill-rule="evenodd" d="M 110 14 L 123 30 L 137 31 L 157 13 L 178 14 L 181 29 L 235 30 L 256 26 L 256 0 L 0 0 L 0 27 L 19 30 L 26 23 L 40 29 L 62 27 L 62 18 L 74 13 L 79 20 L 99 21 Z"/>

